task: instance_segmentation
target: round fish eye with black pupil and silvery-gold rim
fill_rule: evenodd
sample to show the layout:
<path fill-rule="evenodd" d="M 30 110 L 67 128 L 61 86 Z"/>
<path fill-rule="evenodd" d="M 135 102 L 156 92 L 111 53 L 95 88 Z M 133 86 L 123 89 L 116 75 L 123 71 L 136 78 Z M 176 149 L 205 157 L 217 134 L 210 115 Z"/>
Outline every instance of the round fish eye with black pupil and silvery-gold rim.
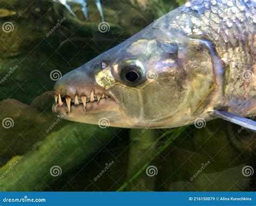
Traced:
<path fill-rule="evenodd" d="M 120 79 L 127 86 L 137 86 L 145 76 L 143 64 L 136 59 L 123 60 L 118 64 Z"/>

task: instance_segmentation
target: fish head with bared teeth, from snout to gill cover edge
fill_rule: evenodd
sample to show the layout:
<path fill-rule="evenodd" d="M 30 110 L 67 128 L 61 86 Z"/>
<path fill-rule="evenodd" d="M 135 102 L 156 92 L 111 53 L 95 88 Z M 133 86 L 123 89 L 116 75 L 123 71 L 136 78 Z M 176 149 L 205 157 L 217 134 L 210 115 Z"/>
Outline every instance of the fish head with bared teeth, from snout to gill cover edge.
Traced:
<path fill-rule="evenodd" d="M 159 22 L 60 78 L 55 91 L 62 100 L 53 112 L 71 121 L 127 128 L 191 122 L 212 84 L 211 58 L 180 32 L 168 35 Z"/>

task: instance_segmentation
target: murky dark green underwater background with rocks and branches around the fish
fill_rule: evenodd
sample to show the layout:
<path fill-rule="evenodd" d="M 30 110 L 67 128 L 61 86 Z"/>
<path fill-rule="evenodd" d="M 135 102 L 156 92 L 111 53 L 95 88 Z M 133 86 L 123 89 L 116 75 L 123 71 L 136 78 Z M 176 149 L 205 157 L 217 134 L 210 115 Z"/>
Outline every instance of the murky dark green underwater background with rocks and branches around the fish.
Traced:
<path fill-rule="evenodd" d="M 96 1 L 87 20 L 77 2 L 74 17 L 56 1 L 0 0 L 0 190 L 255 190 L 255 133 L 232 123 L 126 129 L 52 113 L 61 75 L 185 3 L 102 0 L 103 30 Z"/>

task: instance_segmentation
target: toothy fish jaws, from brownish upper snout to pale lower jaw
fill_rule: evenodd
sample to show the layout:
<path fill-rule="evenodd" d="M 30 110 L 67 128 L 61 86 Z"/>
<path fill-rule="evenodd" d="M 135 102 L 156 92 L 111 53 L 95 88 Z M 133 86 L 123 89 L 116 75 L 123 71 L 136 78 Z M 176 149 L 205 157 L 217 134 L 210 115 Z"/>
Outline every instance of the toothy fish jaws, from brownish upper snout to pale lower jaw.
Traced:
<path fill-rule="evenodd" d="M 106 119 L 107 126 L 125 126 L 120 124 L 125 115 L 118 101 L 79 69 L 60 78 L 54 90 L 52 111 L 63 119 L 94 125 Z"/>

